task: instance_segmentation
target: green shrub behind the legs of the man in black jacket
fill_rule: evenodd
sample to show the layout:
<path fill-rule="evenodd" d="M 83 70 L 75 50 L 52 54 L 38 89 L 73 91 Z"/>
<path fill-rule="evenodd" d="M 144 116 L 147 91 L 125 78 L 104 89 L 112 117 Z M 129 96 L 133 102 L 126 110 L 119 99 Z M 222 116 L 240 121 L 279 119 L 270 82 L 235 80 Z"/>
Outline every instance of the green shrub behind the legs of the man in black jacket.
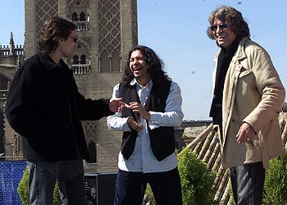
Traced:
<path fill-rule="evenodd" d="M 22 205 L 29 204 L 28 179 L 29 179 L 29 172 L 28 172 L 28 168 L 26 168 L 26 170 L 23 173 L 23 177 L 19 183 L 19 186 L 17 188 Z M 53 193 L 53 204 L 54 205 L 62 204 L 58 190 L 59 190 L 58 183 L 56 183 L 54 193 Z"/>

